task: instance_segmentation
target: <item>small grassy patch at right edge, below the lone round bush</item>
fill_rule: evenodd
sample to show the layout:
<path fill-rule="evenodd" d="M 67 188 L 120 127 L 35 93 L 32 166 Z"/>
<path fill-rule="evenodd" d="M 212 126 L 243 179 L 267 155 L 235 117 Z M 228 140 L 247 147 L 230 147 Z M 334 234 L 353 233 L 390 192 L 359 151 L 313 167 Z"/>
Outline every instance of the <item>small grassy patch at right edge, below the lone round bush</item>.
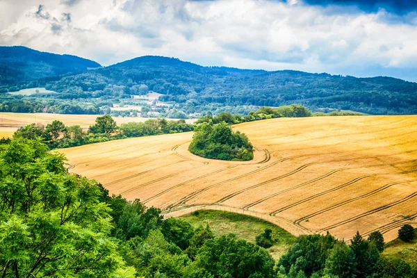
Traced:
<path fill-rule="evenodd" d="M 411 243 L 404 243 L 400 238 L 397 238 L 385 245 L 382 255 L 417 264 L 417 238 L 411 241 Z"/>

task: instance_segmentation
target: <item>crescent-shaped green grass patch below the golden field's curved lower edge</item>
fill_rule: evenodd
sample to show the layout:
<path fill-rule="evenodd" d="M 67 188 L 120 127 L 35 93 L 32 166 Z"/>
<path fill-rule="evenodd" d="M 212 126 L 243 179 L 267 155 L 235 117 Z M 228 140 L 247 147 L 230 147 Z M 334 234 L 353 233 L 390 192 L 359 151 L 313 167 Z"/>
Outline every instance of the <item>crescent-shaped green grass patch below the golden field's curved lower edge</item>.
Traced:
<path fill-rule="evenodd" d="M 208 224 L 215 236 L 236 234 L 237 238 L 251 243 L 255 243 L 255 237 L 263 233 L 265 229 L 272 229 L 272 237 L 278 241 L 268 249 L 268 252 L 275 261 L 278 261 L 295 241 L 295 236 L 275 224 L 238 213 L 204 210 L 181 216 L 181 219 L 189 222 L 193 227 Z"/>

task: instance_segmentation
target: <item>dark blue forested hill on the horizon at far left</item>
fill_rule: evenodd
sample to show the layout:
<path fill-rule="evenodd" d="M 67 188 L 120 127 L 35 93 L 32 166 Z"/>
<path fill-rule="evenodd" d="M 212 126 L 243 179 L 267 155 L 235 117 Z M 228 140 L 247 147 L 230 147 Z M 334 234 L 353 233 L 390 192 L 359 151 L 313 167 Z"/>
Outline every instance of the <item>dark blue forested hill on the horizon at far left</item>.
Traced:
<path fill-rule="evenodd" d="M 27 47 L 0 47 L 0 84 L 15 85 L 67 73 L 85 72 L 99 63 L 77 56 L 40 52 Z"/>

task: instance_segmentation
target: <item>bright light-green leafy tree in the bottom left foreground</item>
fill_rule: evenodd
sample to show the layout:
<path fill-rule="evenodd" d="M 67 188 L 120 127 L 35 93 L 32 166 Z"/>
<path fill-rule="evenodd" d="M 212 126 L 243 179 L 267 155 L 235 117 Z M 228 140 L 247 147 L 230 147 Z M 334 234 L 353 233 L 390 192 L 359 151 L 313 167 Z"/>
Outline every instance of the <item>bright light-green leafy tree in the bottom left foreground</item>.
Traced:
<path fill-rule="evenodd" d="M 2 277 L 132 277 L 97 183 L 68 174 L 64 161 L 40 140 L 1 145 Z"/>

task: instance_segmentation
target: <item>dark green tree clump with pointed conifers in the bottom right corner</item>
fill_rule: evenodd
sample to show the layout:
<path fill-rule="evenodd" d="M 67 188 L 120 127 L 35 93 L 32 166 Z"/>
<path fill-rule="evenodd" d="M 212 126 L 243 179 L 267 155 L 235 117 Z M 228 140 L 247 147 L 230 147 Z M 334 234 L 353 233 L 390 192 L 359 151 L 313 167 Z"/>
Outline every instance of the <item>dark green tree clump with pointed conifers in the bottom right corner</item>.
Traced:
<path fill-rule="evenodd" d="M 279 278 L 412 278 L 417 265 L 381 255 L 384 237 L 375 231 L 368 239 L 359 232 L 350 240 L 336 240 L 330 234 L 297 238 L 291 250 L 277 264 Z"/>

